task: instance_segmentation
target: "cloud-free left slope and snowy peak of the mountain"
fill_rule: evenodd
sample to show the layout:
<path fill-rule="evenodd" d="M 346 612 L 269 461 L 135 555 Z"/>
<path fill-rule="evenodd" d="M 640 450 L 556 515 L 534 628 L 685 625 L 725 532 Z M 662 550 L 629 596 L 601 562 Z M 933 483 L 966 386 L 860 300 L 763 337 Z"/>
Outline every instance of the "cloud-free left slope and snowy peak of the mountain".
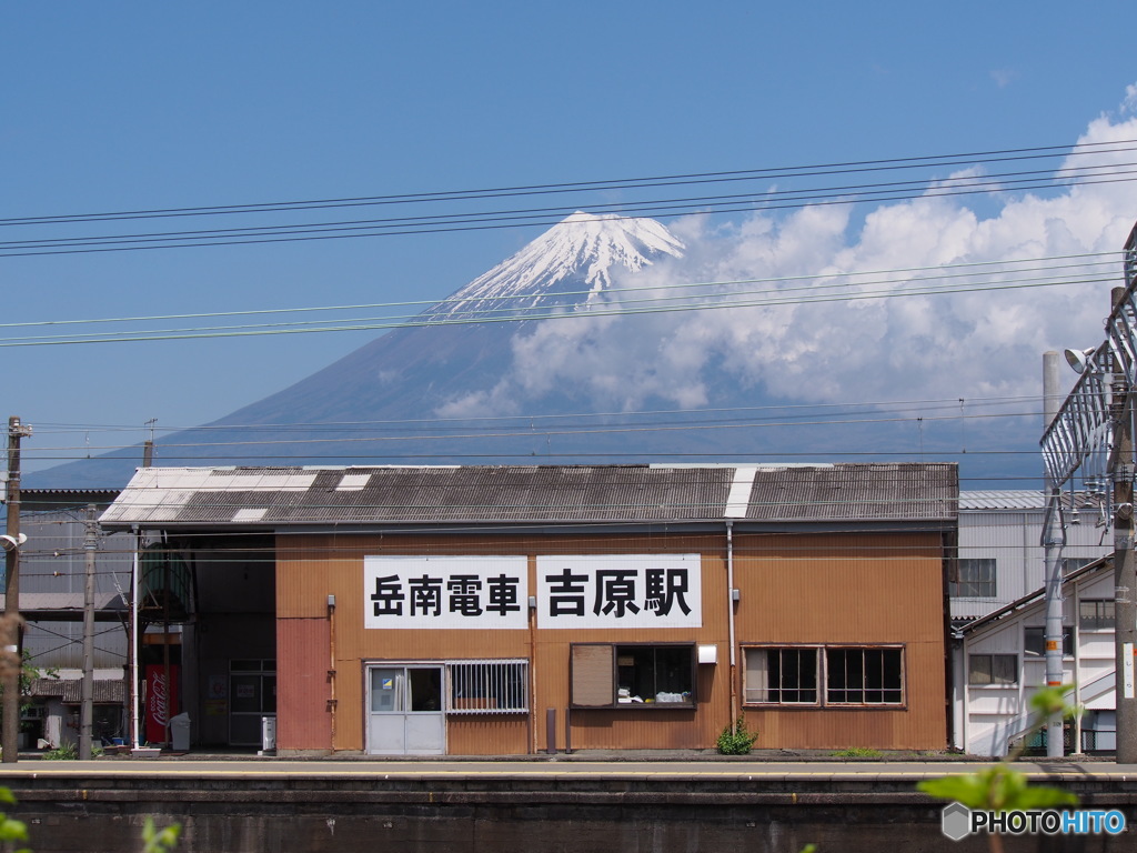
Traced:
<path fill-rule="evenodd" d="M 658 222 L 578 212 L 405 328 L 225 417 L 160 439 L 155 464 L 508 463 L 533 462 L 550 448 L 556 457 L 547 461 L 563 463 L 642 453 L 658 442 L 642 434 L 629 441 L 613 425 L 621 416 L 597 415 L 576 389 L 541 395 L 539 407 L 523 413 L 488 400 L 513 370 L 517 341 L 540 323 L 587 315 L 606 304 L 617 278 L 682 254 Z M 534 419 L 550 415 L 587 423 L 556 429 L 550 439 L 534 428 Z M 117 487 L 141 458 L 140 447 L 125 448 L 25 482 Z"/>

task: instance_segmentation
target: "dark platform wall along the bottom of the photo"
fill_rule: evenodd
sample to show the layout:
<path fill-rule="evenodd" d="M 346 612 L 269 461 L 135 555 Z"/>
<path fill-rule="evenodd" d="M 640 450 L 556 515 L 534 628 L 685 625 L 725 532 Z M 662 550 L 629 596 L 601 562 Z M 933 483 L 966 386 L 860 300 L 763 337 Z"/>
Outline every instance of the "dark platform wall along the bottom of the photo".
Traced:
<path fill-rule="evenodd" d="M 16 781 L 16 780 L 13 780 Z M 10 811 L 36 853 L 141 850 L 147 814 L 179 821 L 179 851 L 445 851 L 446 853 L 932 853 L 986 851 L 985 837 L 940 834 L 940 808 L 908 785 L 829 781 L 797 790 L 742 780 L 381 778 L 26 779 Z M 1121 808 L 1130 786 L 1084 790 L 1086 808 Z M 875 788 L 875 789 L 874 789 Z M 1135 827 L 1137 828 L 1137 827 Z M 1007 851 L 1130 851 L 1118 837 L 1007 838 Z"/>

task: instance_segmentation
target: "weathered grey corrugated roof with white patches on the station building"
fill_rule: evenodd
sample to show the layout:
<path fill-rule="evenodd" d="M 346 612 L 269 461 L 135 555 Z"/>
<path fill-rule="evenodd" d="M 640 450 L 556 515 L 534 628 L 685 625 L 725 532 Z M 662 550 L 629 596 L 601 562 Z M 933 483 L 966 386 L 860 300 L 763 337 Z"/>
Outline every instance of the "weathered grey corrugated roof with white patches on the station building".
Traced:
<path fill-rule="evenodd" d="M 747 494 L 742 504 L 739 496 Z M 957 467 L 943 463 L 160 467 L 139 470 L 101 521 L 269 528 L 728 517 L 946 522 L 955 519 L 957 497 Z"/>

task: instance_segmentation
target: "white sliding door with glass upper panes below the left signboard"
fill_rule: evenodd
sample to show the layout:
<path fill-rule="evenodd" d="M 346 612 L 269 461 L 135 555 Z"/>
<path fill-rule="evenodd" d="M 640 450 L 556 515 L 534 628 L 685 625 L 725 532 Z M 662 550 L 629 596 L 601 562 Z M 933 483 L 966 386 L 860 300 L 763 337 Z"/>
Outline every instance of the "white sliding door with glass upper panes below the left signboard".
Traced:
<path fill-rule="evenodd" d="M 446 753 L 441 666 L 371 666 L 368 693 L 370 754 Z"/>

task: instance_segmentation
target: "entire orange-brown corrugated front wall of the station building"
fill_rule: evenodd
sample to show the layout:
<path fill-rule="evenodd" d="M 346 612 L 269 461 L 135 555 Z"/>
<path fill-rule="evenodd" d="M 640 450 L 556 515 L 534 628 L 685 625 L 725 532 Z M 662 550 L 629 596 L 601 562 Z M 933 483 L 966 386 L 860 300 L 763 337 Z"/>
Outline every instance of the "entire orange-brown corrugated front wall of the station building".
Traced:
<path fill-rule="evenodd" d="M 736 635 L 742 643 L 904 643 L 907 705 L 901 711 L 746 710 L 760 747 L 936 748 L 946 743 L 940 537 L 927 535 L 736 536 Z M 530 590 L 540 554 L 702 555 L 703 624 L 690 629 L 433 631 L 364 628 L 363 558 L 397 555 L 526 555 Z M 329 616 L 327 596 L 334 595 Z M 565 746 L 571 643 L 717 646 L 698 666 L 697 707 L 571 712 L 573 748 L 712 748 L 731 721 L 727 540 L 720 536 L 277 538 L 277 744 L 358 751 L 365 743 L 365 662 L 518 657 L 531 662 L 531 720 L 450 717 L 451 754 L 543 751 L 546 710 Z M 324 637 L 317 624 L 324 626 Z M 294 636 L 293 636 L 294 635 Z M 334 652 L 330 644 L 334 636 Z M 334 657 L 334 666 L 331 662 Z M 741 668 L 741 655 L 738 657 Z M 334 686 L 326 672 L 334 669 Z M 321 679 L 324 690 L 315 689 Z M 334 743 L 327 697 L 334 687 Z M 737 707 L 741 680 L 736 673 Z M 322 734 L 321 734 L 322 732 Z M 319 746 L 316 742 L 323 737 Z"/>

